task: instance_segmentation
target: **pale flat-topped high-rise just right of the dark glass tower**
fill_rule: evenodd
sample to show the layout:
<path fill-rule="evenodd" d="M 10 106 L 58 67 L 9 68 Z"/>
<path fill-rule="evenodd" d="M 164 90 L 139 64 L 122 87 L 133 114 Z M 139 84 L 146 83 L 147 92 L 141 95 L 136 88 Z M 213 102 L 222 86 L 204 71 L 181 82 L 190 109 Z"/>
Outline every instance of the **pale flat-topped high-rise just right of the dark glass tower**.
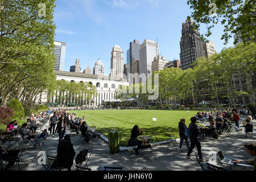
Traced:
<path fill-rule="evenodd" d="M 139 75 L 140 82 L 146 83 L 147 77 L 152 73 L 152 61 L 159 55 L 158 43 L 152 40 L 144 40 L 139 46 Z"/>

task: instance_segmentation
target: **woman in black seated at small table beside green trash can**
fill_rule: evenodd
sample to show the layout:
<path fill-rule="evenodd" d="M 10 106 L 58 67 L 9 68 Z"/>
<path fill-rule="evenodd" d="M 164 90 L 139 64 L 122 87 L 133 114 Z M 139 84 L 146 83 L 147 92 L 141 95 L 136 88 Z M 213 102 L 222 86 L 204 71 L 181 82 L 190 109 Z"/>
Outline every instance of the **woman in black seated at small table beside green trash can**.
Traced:
<path fill-rule="evenodd" d="M 135 152 L 136 152 L 137 155 L 139 155 L 139 152 L 138 152 L 139 148 L 142 147 L 142 141 L 138 140 L 138 137 L 139 137 L 139 135 L 142 134 L 142 132 L 143 132 L 143 130 L 140 129 L 138 125 L 135 125 L 133 127 L 133 130 L 131 130 L 131 138 L 128 142 L 129 146 L 138 146 L 135 149 Z"/>

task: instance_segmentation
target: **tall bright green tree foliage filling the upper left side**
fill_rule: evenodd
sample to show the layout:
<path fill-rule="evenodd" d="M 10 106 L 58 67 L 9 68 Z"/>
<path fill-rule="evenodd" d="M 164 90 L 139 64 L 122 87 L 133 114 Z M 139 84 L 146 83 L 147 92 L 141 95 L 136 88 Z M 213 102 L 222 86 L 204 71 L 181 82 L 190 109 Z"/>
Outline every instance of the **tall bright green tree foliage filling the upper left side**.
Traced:
<path fill-rule="evenodd" d="M 40 4 L 46 5 L 45 15 Z M 55 57 L 53 39 L 55 0 L 2 0 L 0 10 L 0 96 L 5 106 L 9 97 L 18 98 L 20 88 L 31 82 L 41 83 L 30 90 L 23 88 L 23 96 L 34 102 L 46 88 L 47 75 L 53 75 Z M 44 75 L 40 74 L 44 73 Z M 54 77 L 53 77 L 54 78 Z M 44 83 L 42 83 L 42 82 Z M 50 81 L 51 82 L 51 81 Z M 41 90 L 40 90 L 41 89 Z M 32 90 L 32 93 L 30 92 Z"/>

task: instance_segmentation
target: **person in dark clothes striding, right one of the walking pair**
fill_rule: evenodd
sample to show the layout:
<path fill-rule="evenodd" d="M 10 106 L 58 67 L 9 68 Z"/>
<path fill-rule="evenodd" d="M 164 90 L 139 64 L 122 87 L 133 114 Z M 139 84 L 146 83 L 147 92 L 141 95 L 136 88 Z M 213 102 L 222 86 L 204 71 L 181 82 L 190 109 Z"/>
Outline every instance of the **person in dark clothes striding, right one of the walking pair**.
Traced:
<path fill-rule="evenodd" d="M 198 155 L 199 155 L 199 159 L 201 162 L 204 162 L 205 160 L 203 159 L 203 156 L 202 156 L 201 143 L 200 143 L 201 132 L 200 132 L 198 126 L 196 125 L 196 117 L 191 118 L 191 124 L 188 126 L 188 129 L 189 129 L 189 138 L 191 140 L 191 146 L 188 150 L 188 154 L 187 154 L 186 158 L 192 159 L 190 154 L 196 146 Z"/>

